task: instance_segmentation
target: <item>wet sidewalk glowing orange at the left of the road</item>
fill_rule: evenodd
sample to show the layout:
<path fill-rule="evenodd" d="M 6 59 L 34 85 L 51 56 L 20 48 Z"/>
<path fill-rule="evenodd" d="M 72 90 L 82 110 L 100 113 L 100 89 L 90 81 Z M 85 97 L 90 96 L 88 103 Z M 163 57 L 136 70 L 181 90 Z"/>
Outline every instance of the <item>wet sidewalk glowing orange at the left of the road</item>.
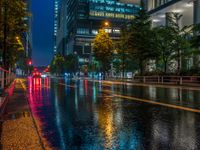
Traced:
<path fill-rule="evenodd" d="M 16 80 L 13 95 L 9 97 L 1 117 L 0 149 L 3 150 L 43 149 L 22 81 L 26 82 L 25 79 Z"/>

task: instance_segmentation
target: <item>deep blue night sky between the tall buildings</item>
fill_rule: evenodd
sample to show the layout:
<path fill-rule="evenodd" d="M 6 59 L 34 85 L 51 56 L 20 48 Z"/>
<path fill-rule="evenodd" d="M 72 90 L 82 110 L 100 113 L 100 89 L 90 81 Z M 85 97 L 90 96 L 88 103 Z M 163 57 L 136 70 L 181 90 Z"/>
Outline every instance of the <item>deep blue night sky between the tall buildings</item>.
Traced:
<path fill-rule="evenodd" d="M 53 0 L 32 0 L 33 65 L 48 65 L 53 56 Z"/>

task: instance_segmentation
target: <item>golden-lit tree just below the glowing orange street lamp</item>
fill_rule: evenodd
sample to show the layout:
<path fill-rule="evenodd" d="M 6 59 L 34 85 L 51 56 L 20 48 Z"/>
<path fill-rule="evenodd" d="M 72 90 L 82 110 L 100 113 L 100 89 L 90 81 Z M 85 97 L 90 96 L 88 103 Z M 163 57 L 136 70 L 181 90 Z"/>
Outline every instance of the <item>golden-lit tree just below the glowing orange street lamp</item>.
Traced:
<path fill-rule="evenodd" d="M 93 42 L 93 54 L 101 64 L 104 74 L 110 69 L 113 54 L 113 42 L 104 29 L 100 29 Z"/>

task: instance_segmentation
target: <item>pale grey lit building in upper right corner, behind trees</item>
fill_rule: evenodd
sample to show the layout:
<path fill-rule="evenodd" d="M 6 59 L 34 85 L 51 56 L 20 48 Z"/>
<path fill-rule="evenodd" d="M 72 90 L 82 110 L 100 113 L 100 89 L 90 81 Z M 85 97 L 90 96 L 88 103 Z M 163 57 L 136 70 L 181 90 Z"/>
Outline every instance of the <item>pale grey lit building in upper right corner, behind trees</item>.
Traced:
<path fill-rule="evenodd" d="M 148 12 L 152 18 L 153 27 L 168 24 L 168 16 L 173 13 L 182 15 L 179 26 L 200 23 L 200 0 L 148 0 Z M 196 59 L 187 58 L 182 60 L 182 65 L 191 68 Z M 176 62 L 176 61 L 175 61 Z"/>

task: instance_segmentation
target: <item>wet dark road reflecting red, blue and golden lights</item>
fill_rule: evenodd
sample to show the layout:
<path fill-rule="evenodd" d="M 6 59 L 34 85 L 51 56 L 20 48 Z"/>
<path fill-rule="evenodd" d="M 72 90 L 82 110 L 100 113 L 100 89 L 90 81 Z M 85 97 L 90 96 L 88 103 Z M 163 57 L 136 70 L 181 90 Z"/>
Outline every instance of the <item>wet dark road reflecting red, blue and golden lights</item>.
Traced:
<path fill-rule="evenodd" d="M 200 89 L 50 78 L 28 87 L 53 149 L 200 149 Z"/>

